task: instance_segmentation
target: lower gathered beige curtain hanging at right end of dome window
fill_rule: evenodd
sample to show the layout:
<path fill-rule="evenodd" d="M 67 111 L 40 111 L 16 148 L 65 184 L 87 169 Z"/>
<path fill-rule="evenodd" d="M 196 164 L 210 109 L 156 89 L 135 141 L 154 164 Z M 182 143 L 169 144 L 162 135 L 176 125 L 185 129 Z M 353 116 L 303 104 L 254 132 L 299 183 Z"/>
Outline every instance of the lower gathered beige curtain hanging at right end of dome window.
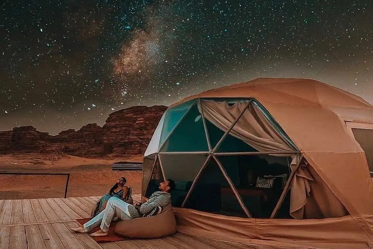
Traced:
<path fill-rule="evenodd" d="M 294 171 L 301 156 L 293 156 Z M 295 219 L 335 218 L 348 215 L 317 172 L 303 159 L 291 182 L 290 215 Z"/>

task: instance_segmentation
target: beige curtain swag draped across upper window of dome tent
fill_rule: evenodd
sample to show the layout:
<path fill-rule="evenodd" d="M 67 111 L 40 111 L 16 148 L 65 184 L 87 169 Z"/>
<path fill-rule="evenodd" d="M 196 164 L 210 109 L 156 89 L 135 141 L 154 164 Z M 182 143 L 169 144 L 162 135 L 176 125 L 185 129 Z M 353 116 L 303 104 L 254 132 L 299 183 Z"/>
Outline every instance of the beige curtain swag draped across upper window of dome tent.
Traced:
<path fill-rule="evenodd" d="M 246 102 L 229 106 L 227 102 L 203 100 L 198 103 L 198 110 L 200 113 L 203 111 L 204 117 L 216 127 L 227 132 L 246 106 Z M 260 113 L 260 110 L 252 105 L 247 108 L 229 134 L 261 152 L 294 151 L 294 148 L 286 144 L 285 139 Z"/>

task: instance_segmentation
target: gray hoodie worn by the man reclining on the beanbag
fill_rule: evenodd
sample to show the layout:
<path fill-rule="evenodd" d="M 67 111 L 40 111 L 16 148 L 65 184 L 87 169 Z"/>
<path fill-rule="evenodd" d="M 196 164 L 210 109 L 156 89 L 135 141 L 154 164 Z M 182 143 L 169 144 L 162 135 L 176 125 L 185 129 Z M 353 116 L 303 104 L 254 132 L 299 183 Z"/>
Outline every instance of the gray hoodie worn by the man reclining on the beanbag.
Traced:
<path fill-rule="evenodd" d="M 165 207 L 168 203 L 171 201 L 171 194 L 163 191 L 156 191 L 154 192 L 150 198 L 141 205 L 140 207 L 140 213 L 146 214 L 149 213 L 154 207 L 160 206 Z M 134 207 L 134 206 L 132 206 Z M 135 208 L 128 208 L 129 213 L 131 214 L 132 218 L 138 217 L 138 212 Z"/>

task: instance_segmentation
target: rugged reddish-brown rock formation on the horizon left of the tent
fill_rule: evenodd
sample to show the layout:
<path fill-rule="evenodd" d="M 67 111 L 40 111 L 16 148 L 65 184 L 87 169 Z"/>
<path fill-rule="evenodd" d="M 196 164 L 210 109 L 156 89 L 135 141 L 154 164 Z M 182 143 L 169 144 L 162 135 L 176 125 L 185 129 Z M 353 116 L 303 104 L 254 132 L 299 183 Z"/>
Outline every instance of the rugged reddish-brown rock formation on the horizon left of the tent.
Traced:
<path fill-rule="evenodd" d="M 0 153 L 68 154 L 82 157 L 132 156 L 144 154 L 167 107 L 134 106 L 109 114 L 103 127 L 87 124 L 56 136 L 32 126 L 0 131 Z"/>

